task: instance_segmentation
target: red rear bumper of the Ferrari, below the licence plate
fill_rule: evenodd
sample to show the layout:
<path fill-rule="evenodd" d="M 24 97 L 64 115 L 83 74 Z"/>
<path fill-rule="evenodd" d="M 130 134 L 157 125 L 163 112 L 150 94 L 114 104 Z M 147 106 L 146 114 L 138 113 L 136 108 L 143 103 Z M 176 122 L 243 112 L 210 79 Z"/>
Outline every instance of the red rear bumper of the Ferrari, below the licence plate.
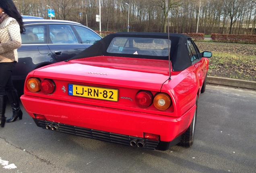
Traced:
<path fill-rule="evenodd" d="M 180 136 L 190 125 L 196 109 L 196 106 L 192 107 L 181 117 L 168 117 L 26 95 L 21 96 L 21 101 L 39 127 L 45 128 L 48 124 L 54 124 L 58 125 L 57 131 L 60 132 L 124 145 L 130 145 L 132 139 L 146 141 L 143 134 L 151 133 L 159 135 L 160 141 L 147 140 L 150 147 L 145 145 L 145 148 L 159 150 L 166 150 L 179 143 Z M 36 114 L 44 115 L 47 121 L 35 119 Z M 79 133 L 76 129 L 80 129 Z M 104 135 L 88 135 L 91 132 L 101 132 Z"/>

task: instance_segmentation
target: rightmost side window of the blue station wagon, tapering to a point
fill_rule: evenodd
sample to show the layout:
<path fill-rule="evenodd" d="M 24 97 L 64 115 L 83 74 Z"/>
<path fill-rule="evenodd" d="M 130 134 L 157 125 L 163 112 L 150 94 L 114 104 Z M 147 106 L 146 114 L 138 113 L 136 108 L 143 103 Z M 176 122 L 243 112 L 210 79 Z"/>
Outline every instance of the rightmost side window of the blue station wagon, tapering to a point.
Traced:
<path fill-rule="evenodd" d="M 99 35 L 85 27 L 74 26 L 74 28 L 82 39 L 83 44 L 94 44 L 98 40 L 101 40 L 101 37 Z"/>

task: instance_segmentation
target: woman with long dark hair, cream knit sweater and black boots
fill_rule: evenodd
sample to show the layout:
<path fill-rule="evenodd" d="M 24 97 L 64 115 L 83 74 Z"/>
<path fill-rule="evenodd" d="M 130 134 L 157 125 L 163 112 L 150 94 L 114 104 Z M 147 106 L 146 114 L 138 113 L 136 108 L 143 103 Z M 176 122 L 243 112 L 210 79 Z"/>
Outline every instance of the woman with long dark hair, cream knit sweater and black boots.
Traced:
<path fill-rule="evenodd" d="M 18 61 L 17 48 L 21 46 L 21 33 L 25 32 L 22 17 L 12 0 L 0 0 L 0 126 L 13 122 L 19 117 L 22 119 L 22 111 L 19 105 L 17 90 L 12 84 L 12 70 Z M 5 119 L 7 95 L 11 107 L 12 117 Z"/>

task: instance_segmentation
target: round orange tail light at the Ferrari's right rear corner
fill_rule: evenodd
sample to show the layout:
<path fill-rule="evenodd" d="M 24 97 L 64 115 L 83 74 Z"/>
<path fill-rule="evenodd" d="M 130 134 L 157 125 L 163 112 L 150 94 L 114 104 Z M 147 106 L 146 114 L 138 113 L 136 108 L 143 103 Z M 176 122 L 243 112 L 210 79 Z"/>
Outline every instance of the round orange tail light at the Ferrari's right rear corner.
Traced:
<path fill-rule="evenodd" d="M 161 111 L 168 109 L 171 105 L 171 98 L 166 93 L 159 93 L 153 101 L 155 107 Z"/>

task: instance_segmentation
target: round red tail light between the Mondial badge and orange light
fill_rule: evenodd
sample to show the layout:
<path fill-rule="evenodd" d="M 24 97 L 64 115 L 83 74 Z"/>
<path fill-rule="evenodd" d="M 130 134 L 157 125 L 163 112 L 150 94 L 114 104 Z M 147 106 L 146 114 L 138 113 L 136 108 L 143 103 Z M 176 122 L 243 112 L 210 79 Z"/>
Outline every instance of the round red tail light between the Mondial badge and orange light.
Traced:
<path fill-rule="evenodd" d="M 153 95 L 149 91 L 140 91 L 136 94 L 135 102 L 139 107 L 149 107 L 153 102 Z"/>

